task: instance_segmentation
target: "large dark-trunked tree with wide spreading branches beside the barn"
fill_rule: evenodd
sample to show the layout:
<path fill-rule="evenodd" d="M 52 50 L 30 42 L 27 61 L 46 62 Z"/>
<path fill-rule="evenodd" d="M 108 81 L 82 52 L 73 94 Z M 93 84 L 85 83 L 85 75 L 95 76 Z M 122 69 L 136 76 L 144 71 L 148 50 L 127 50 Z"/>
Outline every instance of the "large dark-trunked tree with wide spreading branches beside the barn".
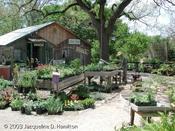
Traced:
<path fill-rule="evenodd" d="M 117 25 L 118 19 L 126 16 L 130 20 L 138 20 L 139 17 L 133 11 L 135 9 L 133 8 L 135 6 L 133 3 L 140 2 L 147 4 L 149 1 L 154 2 L 157 7 L 167 9 L 170 9 L 170 6 L 175 6 L 173 0 L 147 0 L 147 2 L 145 0 L 116 0 L 111 6 L 108 6 L 110 0 L 24 0 L 24 2 L 19 3 L 18 7 L 19 11 L 23 10 L 26 14 L 34 11 L 47 17 L 53 14 L 64 13 L 72 7 L 79 6 L 89 15 L 92 25 L 96 30 L 96 35 L 100 42 L 100 58 L 108 60 L 110 37 L 112 36 L 115 25 Z M 67 6 L 62 10 L 50 11 L 44 8 L 48 4 L 60 6 L 64 2 L 67 2 Z M 11 4 L 13 3 L 11 2 Z M 27 11 L 25 10 L 26 6 L 28 7 Z M 129 6 L 130 10 L 126 9 Z M 143 11 L 142 13 L 144 14 Z"/>

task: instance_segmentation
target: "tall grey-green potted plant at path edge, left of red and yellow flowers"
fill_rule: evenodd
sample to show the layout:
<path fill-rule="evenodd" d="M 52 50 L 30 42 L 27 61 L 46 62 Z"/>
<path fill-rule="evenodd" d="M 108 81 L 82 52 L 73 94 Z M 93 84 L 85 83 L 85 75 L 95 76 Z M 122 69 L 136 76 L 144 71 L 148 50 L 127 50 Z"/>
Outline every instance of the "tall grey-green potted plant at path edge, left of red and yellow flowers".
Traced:
<path fill-rule="evenodd" d="M 60 98 L 50 97 L 47 100 L 46 109 L 49 115 L 62 114 L 63 102 L 60 100 Z"/>

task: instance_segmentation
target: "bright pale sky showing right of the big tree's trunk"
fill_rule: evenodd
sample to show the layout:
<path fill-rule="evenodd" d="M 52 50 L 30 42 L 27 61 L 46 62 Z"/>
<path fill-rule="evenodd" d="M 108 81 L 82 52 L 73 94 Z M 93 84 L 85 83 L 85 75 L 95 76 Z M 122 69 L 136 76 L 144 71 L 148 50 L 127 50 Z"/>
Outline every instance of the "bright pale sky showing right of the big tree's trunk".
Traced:
<path fill-rule="evenodd" d="M 145 1 L 144 3 L 139 4 L 137 7 L 137 10 L 142 11 L 141 13 L 146 12 L 146 10 L 151 11 L 155 9 L 152 0 L 144 0 L 144 1 Z M 116 2 L 116 0 L 108 0 L 109 6 L 112 5 L 114 2 Z M 167 36 L 167 27 L 170 24 L 170 15 L 168 15 L 167 11 L 161 9 L 160 15 L 145 17 L 141 19 L 141 21 L 144 21 L 144 23 L 148 25 L 145 25 L 140 21 L 129 21 L 124 17 L 122 18 L 122 20 L 128 24 L 131 31 L 139 31 L 151 36 L 153 35 Z"/>

